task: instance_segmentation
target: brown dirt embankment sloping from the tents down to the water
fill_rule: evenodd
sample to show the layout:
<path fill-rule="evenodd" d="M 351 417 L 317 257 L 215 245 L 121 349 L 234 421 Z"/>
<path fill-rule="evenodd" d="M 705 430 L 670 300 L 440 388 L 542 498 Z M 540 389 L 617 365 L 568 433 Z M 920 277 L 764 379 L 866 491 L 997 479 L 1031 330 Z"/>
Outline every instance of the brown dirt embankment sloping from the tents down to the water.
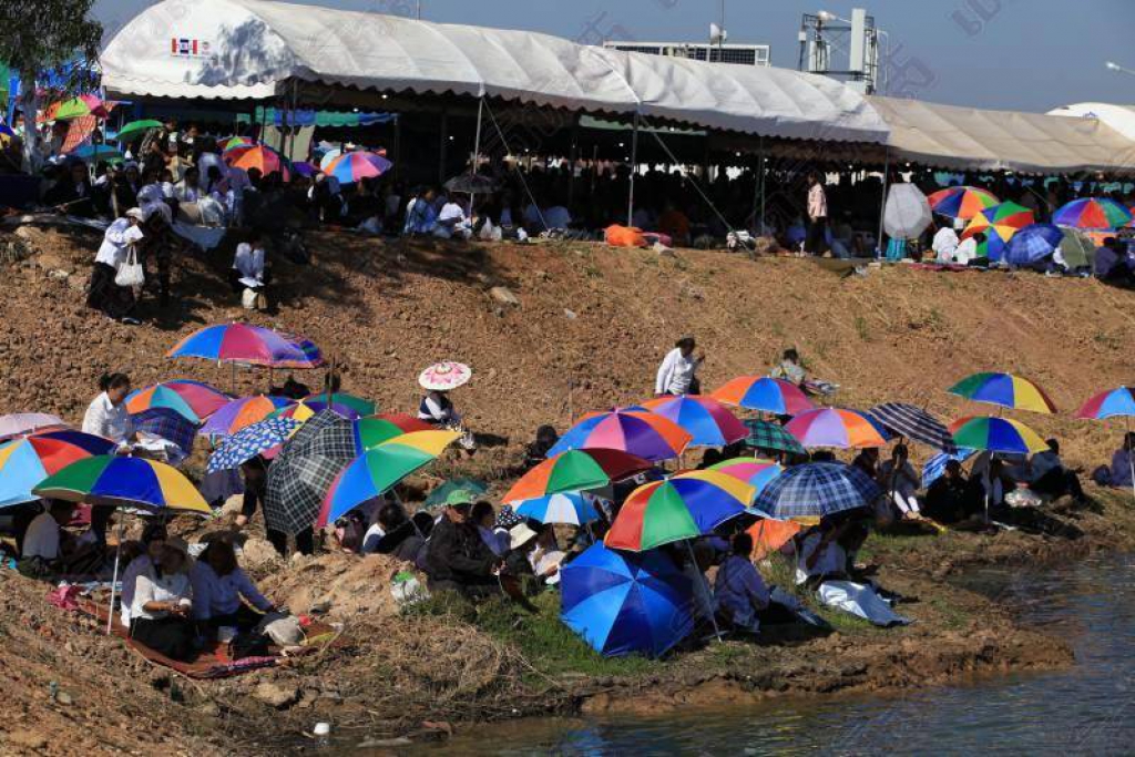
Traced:
<path fill-rule="evenodd" d="M 32 232 L 26 242 L 36 254 L 0 264 L 0 413 L 44 410 L 78 421 L 108 369 L 128 371 L 137 385 L 191 376 L 228 388 L 227 370 L 165 358 L 202 325 L 247 318 L 225 285 L 225 253 L 185 261 L 175 277 L 177 306 L 157 313 L 148 304 L 151 322 L 131 328 L 83 306 L 79 289 L 96 239 Z M 763 372 L 791 345 L 816 376 L 841 384 L 841 404 L 917 402 L 951 418 L 978 409 L 944 387 L 976 370 L 1011 370 L 1035 379 L 1066 411 L 1022 419 L 1060 436 L 1066 459 L 1082 465 L 1105 461 L 1119 430 L 1070 420 L 1068 411 L 1127 381 L 1135 346 L 1135 298 L 1094 281 L 902 268 L 840 278 L 807 261 L 712 252 L 403 246 L 335 233 L 314 235 L 311 246 L 314 266 L 278 267 L 279 312 L 250 320 L 313 338 L 343 369 L 345 389 L 384 410 L 415 406 L 422 365 L 468 362 L 476 378 L 454 398 L 484 447 L 472 461 L 447 461 L 435 472 L 488 476 L 498 485 L 538 424 L 562 430 L 573 413 L 648 395 L 657 361 L 684 334 L 696 335 L 709 356 L 708 387 Z M 498 286 L 519 304 L 490 294 Z M 310 382 L 318 388 L 318 378 Z M 263 373 L 247 372 L 236 388 L 267 384 Z M 14 713 L 0 723 L 0 751 L 212 754 L 239 742 L 257 752 L 271 746 L 249 734 L 275 731 L 302 741 L 297 734 L 318 720 L 432 734 L 444 725 L 423 721 L 902 688 L 1065 664 L 1070 653 L 1062 642 L 1015 628 L 1002 608 L 942 578 L 973 562 L 1129 546 L 1130 512 L 1110 499 L 1102 506 L 1060 518 L 1083 531 L 1075 540 L 873 539 L 882 582 L 920 599 L 901 607 L 916 620 L 911 626 L 711 645 L 609 671 L 549 666 L 507 640 L 516 629 L 533 637 L 547 630 L 530 620 L 510 620 L 494 633 L 478 619 L 400 616 L 387 583 L 394 566 L 329 555 L 291 565 L 267 561 L 257 572 L 295 609 L 330 598 L 333 615 L 347 623 L 339 646 L 295 667 L 191 684 L 47 607 L 42 586 L 0 572 L 0 698 Z M 70 704 L 51 697 L 51 681 Z"/>

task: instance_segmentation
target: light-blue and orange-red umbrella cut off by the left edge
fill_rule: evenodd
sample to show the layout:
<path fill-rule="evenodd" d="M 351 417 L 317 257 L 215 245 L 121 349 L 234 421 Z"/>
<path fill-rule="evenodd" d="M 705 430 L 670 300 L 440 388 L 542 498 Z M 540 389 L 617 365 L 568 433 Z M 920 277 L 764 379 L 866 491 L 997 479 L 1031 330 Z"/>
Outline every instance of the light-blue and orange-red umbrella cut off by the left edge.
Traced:
<path fill-rule="evenodd" d="M 72 463 L 110 454 L 115 443 L 82 431 L 42 431 L 0 445 L 0 508 L 39 499 L 32 488 Z"/>

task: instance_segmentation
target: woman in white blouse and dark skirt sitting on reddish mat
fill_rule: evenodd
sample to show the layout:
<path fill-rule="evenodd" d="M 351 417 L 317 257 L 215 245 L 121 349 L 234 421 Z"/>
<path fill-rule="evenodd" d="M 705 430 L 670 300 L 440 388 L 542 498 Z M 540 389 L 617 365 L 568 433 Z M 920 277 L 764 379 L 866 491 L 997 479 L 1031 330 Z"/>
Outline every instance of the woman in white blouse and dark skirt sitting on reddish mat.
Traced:
<path fill-rule="evenodd" d="M 138 573 L 131 604 L 131 638 L 170 659 L 194 657 L 191 560 L 180 539 L 167 539 L 158 561 Z"/>

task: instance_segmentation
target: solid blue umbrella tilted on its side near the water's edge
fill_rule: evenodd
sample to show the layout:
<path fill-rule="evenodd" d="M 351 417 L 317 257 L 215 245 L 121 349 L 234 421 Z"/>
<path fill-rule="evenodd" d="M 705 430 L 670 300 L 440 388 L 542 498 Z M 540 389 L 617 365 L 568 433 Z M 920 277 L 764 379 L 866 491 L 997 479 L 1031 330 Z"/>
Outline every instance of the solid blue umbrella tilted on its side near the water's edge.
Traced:
<path fill-rule="evenodd" d="M 606 657 L 658 657 L 693 630 L 693 583 L 656 550 L 596 544 L 564 566 L 561 589 L 561 619 Z"/>

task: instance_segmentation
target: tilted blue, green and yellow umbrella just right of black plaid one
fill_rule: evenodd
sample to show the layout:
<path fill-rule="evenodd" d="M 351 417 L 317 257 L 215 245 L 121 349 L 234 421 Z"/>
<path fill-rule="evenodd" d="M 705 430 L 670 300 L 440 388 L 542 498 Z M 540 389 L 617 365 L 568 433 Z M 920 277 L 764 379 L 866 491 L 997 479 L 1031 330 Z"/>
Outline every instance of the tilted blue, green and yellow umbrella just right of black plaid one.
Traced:
<path fill-rule="evenodd" d="M 317 528 L 322 528 L 364 502 L 380 497 L 402 479 L 437 460 L 461 438 L 456 431 L 417 431 L 395 437 L 364 453 L 335 479 L 323 498 Z"/>

